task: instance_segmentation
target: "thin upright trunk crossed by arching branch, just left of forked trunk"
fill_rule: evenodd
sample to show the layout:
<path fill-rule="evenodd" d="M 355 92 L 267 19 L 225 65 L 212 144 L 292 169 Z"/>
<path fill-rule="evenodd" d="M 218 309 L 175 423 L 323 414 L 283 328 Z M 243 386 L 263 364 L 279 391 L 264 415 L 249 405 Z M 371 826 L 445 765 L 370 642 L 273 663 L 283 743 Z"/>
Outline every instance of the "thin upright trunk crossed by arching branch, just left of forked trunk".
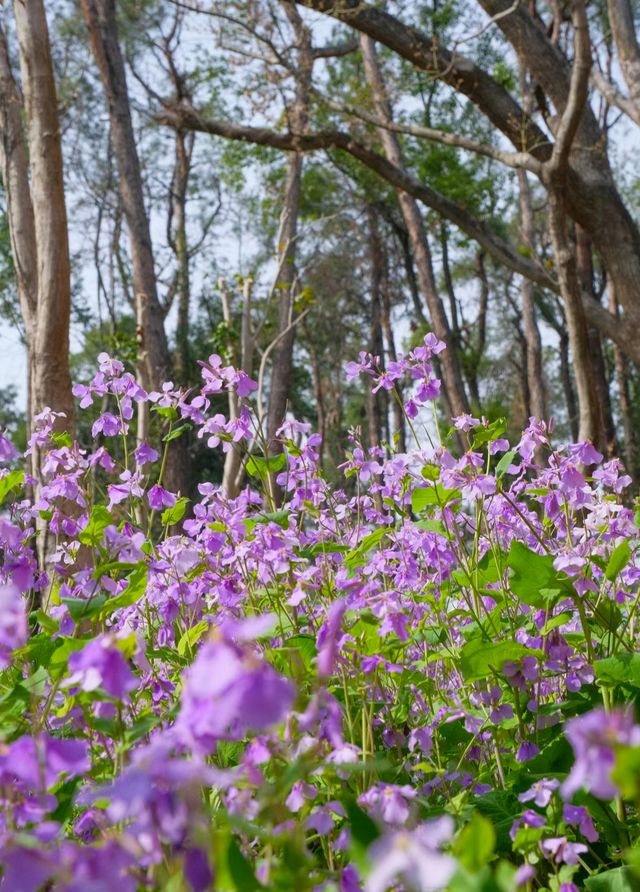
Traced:
<path fill-rule="evenodd" d="M 520 188 L 520 228 L 522 243 L 528 251 L 535 250 L 535 231 L 531 189 L 526 171 L 518 171 Z M 542 371 L 542 339 L 536 319 L 534 285 L 529 279 L 522 280 L 522 324 L 526 342 L 526 375 L 529 392 L 529 410 L 538 420 L 547 417 L 545 383 Z"/>

